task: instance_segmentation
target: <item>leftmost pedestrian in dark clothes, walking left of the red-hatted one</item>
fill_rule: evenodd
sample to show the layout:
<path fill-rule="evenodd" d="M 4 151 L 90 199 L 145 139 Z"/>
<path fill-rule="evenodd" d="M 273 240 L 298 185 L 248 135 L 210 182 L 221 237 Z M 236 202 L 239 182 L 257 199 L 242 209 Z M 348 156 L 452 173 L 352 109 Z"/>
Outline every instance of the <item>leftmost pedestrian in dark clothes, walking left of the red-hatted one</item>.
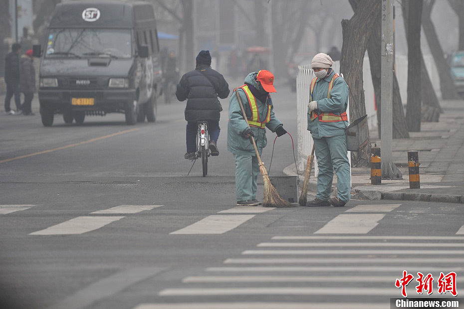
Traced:
<path fill-rule="evenodd" d="M 13 43 L 11 45 L 11 52 L 5 57 L 5 114 L 15 115 L 21 114 L 21 93 L 19 92 L 19 53 L 21 52 L 21 45 Z M 9 104 L 14 95 L 14 103 L 16 104 L 16 112 L 10 109 Z"/>

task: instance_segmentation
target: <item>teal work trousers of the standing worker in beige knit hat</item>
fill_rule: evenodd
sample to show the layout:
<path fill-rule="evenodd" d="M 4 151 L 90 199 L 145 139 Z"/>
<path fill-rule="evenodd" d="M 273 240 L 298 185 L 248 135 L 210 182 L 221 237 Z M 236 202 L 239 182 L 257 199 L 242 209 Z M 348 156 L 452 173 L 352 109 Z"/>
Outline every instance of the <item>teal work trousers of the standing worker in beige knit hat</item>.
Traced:
<path fill-rule="evenodd" d="M 351 173 L 346 150 L 346 136 L 340 135 L 313 140 L 319 168 L 316 197 L 323 201 L 330 198 L 335 169 L 338 197 L 345 203 L 348 202 L 351 197 Z"/>

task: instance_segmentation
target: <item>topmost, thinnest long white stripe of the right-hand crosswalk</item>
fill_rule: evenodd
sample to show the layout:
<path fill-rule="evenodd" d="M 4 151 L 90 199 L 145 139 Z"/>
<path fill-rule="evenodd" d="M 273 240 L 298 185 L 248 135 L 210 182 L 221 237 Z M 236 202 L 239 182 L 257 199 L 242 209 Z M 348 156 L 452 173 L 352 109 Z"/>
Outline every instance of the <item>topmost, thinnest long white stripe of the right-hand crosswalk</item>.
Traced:
<path fill-rule="evenodd" d="M 274 236 L 273 240 L 464 240 L 460 236 Z"/>

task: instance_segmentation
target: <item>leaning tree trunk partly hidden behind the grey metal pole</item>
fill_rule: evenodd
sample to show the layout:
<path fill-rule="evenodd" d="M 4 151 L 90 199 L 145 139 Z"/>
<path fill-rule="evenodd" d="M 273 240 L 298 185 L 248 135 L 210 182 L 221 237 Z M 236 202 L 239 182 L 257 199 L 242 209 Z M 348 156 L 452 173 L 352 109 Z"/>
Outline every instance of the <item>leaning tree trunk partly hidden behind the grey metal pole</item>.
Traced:
<path fill-rule="evenodd" d="M 375 21 L 372 29 L 369 44 L 367 45 L 367 53 L 369 55 L 369 63 L 371 65 L 372 84 L 375 91 L 375 102 L 377 107 L 377 127 L 379 138 L 381 137 L 381 89 L 382 89 L 382 22 L 380 18 Z M 403 111 L 403 102 L 401 101 L 400 87 L 396 75 L 393 74 L 393 138 L 394 139 L 407 139 L 409 138 L 408 128 L 406 127 L 406 119 Z"/>

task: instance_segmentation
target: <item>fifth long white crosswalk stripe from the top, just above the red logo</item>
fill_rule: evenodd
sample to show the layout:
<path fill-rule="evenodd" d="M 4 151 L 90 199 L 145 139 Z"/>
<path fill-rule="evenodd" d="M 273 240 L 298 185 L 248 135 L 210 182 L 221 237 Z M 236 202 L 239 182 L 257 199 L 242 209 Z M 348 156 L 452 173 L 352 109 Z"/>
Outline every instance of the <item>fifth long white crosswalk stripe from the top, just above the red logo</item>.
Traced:
<path fill-rule="evenodd" d="M 402 266 L 257 266 L 257 267 L 210 267 L 207 272 L 395 272 L 403 271 Z M 459 272 L 464 267 L 408 267 L 408 272 Z"/>

